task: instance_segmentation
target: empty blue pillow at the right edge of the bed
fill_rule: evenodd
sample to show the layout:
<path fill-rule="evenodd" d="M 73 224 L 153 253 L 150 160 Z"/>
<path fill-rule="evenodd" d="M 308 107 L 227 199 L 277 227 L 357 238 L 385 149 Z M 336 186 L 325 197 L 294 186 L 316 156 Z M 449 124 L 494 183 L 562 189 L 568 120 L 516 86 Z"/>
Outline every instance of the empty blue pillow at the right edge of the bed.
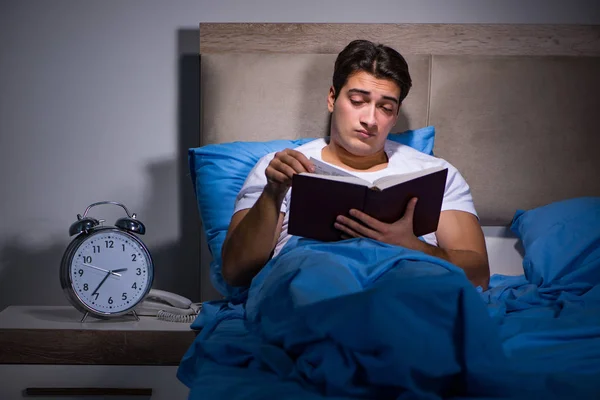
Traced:
<path fill-rule="evenodd" d="M 517 210 L 511 230 L 523 243 L 523 269 L 537 286 L 600 283 L 600 197 Z"/>

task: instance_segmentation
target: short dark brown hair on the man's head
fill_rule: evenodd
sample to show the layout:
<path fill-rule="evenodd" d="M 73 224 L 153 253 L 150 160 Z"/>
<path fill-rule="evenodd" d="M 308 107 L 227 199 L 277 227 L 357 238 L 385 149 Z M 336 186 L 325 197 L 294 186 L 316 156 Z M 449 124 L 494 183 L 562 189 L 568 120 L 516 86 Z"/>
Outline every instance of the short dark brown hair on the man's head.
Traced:
<path fill-rule="evenodd" d="M 359 71 L 367 72 L 378 79 L 392 80 L 400 88 L 398 102 L 406 98 L 412 86 L 408 64 L 396 50 L 368 40 L 354 40 L 338 54 L 333 70 L 335 99 L 348 78 Z"/>

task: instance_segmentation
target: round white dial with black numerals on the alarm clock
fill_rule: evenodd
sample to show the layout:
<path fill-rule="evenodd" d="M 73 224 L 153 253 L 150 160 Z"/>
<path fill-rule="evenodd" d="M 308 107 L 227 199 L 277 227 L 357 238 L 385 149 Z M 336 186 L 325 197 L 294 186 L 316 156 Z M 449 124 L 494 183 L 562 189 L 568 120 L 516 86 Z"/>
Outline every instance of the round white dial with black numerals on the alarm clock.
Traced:
<path fill-rule="evenodd" d="M 141 243 L 116 230 L 100 230 L 85 238 L 69 266 L 75 295 L 102 314 L 135 306 L 152 284 L 152 274 L 152 260 Z"/>

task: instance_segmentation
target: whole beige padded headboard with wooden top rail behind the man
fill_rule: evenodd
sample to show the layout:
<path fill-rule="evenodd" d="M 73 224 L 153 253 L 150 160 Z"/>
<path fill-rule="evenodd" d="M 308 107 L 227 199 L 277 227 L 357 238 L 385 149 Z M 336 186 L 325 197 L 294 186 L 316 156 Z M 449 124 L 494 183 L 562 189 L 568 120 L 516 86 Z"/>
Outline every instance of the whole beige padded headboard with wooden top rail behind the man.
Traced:
<path fill-rule="evenodd" d="M 325 135 L 333 63 L 356 38 L 407 58 L 394 132 L 435 126 L 482 225 L 600 196 L 599 26 L 200 24 L 200 143 Z"/>

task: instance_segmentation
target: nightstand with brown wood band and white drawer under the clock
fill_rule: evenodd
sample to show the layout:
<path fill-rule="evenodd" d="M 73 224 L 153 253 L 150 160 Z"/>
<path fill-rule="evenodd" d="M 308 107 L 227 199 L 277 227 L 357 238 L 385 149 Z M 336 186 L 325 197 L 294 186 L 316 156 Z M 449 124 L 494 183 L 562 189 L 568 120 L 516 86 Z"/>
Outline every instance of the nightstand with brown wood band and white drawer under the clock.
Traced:
<path fill-rule="evenodd" d="M 0 312 L 0 399 L 187 398 L 175 374 L 189 323 L 81 317 L 70 306 Z"/>

